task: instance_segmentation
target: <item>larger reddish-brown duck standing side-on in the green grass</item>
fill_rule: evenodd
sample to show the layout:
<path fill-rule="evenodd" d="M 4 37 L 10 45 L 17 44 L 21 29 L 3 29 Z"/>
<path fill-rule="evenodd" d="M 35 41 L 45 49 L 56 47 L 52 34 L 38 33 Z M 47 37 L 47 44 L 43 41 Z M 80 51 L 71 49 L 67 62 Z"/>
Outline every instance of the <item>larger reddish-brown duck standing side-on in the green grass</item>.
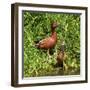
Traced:
<path fill-rule="evenodd" d="M 40 40 L 35 46 L 39 49 L 49 50 L 54 48 L 57 43 L 57 33 L 55 29 L 58 27 L 56 21 L 51 23 L 51 35 L 45 39 Z"/>

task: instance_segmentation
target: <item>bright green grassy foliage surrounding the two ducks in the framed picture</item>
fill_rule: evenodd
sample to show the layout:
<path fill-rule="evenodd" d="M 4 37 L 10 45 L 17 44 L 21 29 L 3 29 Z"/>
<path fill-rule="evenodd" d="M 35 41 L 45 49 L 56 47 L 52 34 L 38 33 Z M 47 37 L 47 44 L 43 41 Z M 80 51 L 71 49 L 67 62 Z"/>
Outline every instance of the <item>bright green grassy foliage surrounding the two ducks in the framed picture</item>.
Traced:
<path fill-rule="evenodd" d="M 23 12 L 24 18 L 24 76 L 78 74 L 80 70 L 80 15 L 62 13 Z M 35 41 L 48 37 L 51 22 L 57 21 L 58 42 L 54 54 L 49 58 L 47 51 L 37 49 Z M 68 70 L 63 74 L 54 68 L 61 41 L 65 41 Z M 72 70 L 71 70 L 72 69 Z M 73 72 L 73 73 L 72 73 Z M 79 72 L 80 73 L 80 72 Z"/>

